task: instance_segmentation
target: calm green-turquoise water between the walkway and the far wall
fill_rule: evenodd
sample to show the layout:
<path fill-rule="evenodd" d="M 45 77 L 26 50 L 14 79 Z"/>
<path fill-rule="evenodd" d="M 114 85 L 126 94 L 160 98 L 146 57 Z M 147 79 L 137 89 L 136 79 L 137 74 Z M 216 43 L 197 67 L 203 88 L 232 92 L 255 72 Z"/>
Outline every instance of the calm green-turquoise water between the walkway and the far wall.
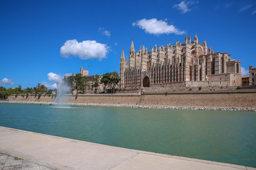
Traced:
<path fill-rule="evenodd" d="M 0 103 L 0 125 L 256 167 L 256 113 Z M 0 146 L 1 147 L 1 146 Z"/>

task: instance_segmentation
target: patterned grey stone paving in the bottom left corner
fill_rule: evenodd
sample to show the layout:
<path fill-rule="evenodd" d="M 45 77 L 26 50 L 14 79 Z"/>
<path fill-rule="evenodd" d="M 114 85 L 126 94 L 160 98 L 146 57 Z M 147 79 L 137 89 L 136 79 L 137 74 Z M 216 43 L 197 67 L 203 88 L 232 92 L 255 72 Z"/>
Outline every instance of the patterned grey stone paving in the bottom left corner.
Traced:
<path fill-rule="evenodd" d="M 0 153 L 0 170 L 51 170 L 46 166 L 34 164 L 18 157 Z"/>

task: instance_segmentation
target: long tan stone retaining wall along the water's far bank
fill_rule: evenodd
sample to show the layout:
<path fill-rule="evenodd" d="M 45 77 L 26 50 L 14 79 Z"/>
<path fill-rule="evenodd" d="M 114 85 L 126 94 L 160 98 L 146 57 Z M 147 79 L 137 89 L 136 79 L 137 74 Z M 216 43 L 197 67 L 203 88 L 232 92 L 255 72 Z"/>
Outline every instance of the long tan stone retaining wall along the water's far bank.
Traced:
<path fill-rule="evenodd" d="M 81 94 L 65 96 L 71 103 L 132 104 L 144 106 L 201 106 L 256 108 L 255 90 L 234 91 L 174 91 L 168 93 L 142 94 Z M 11 95 L 9 101 L 48 102 L 55 96 Z"/>

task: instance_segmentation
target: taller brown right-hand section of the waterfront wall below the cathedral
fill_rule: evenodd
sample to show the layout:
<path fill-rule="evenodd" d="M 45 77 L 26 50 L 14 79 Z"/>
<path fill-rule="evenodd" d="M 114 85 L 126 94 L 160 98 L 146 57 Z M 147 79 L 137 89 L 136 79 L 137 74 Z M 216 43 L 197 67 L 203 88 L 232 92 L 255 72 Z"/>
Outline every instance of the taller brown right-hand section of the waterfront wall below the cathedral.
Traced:
<path fill-rule="evenodd" d="M 256 108 L 256 91 L 186 91 L 142 94 L 141 105 Z"/>

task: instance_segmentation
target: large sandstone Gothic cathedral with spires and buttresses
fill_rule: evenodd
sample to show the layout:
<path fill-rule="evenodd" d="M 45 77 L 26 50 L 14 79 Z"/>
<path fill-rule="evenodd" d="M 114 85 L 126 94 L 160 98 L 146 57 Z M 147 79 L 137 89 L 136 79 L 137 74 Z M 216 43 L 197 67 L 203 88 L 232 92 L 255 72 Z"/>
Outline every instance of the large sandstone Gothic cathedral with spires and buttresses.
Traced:
<path fill-rule="evenodd" d="M 134 42 L 125 59 L 122 50 L 119 75 L 121 89 L 140 87 L 189 87 L 189 86 L 241 86 L 241 62 L 231 60 L 227 52 L 213 52 L 198 42 L 196 35 L 190 35 L 185 42 L 170 43 L 147 48 L 140 47 L 136 52 Z"/>

